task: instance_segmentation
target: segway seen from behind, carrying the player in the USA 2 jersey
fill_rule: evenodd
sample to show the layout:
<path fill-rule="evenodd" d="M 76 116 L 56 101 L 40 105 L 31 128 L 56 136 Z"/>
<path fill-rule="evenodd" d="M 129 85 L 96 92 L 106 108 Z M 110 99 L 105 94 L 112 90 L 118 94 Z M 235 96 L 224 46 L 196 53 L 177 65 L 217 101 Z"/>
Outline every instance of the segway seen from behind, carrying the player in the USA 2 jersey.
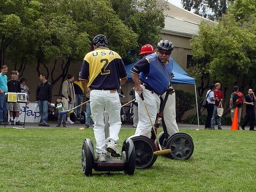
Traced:
<path fill-rule="evenodd" d="M 107 116 L 104 112 L 104 117 Z M 109 133 L 108 119 L 105 122 L 105 138 L 106 133 Z M 91 139 L 85 139 L 82 145 L 82 172 L 86 176 L 92 175 L 92 170 L 96 172 L 121 172 L 124 174 L 133 175 L 135 170 L 135 147 L 131 139 L 126 139 L 123 142 L 121 157 L 110 157 L 106 154 L 106 162 L 98 162 L 94 157 L 94 147 Z"/>

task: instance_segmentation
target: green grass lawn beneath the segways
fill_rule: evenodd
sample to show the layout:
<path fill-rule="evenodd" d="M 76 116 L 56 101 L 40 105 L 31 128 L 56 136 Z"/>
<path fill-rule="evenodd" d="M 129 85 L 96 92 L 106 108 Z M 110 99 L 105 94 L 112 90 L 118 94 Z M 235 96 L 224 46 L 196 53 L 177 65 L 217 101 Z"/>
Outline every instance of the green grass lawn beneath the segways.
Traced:
<path fill-rule="evenodd" d="M 149 169 L 81 170 L 81 148 L 92 129 L 0 128 L 0 191 L 255 191 L 256 132 L 180 130 L 195 150 L 189 160 L 158 156 Z M 120 144 L 135 130 L 122 129 Z M 159 130 L 159 133 L 161 130 Z"/>

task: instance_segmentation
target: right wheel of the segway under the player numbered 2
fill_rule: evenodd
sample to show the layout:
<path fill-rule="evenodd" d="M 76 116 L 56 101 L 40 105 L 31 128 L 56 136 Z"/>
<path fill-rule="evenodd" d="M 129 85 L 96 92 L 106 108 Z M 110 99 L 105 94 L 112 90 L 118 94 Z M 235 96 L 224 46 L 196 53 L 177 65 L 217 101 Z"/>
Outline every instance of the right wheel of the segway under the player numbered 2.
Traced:
<path fill-rule="evenodd" d="M 130 141 L 129 141 L 130 140 Z M 135 162 L 136 162 L 136 155 L 135 155 L 135 147 L 133 141 L 131 139 L 126 139 L 123 142 L 122 146 L 122 154 L 125 153 L 126 156 L 126 164 L 124 166 L 123 172 L 127 175 L 133 175 L 135 171 Z"/>

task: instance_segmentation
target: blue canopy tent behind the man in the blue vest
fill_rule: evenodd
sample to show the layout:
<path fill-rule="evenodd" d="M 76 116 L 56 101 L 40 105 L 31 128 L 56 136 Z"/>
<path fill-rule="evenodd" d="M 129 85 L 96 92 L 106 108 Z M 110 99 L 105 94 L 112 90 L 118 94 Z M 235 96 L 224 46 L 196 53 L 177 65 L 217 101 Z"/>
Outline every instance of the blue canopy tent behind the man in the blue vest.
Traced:
<path fill-rule="evenodd" d="M 133 82 L 131 68 L 135 63 L 131 65 L 125 66 L 127 71 L 127 82 Z M 174 61 L 173 62 L 173 74 L 174 77 L 170 82 L 172 84 L 195 84 L 195 94 L 196 94 L 196 102 L 197 102 L 197 89 L 196 89 L 196 80 L 192 77 L 189 77 L 188 74 Z M 199 127 L 199 115 L 198 115 L 198 104 L 197 104 L 197 118 L 198 118 L 198 127 Z"/>

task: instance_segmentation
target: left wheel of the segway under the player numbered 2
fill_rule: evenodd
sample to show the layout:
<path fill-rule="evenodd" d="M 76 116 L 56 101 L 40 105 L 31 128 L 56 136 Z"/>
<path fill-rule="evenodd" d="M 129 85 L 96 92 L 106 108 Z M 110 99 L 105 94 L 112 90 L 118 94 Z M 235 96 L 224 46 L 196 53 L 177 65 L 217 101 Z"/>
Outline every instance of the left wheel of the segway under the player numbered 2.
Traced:
<path fill-rule="evenodd" d="M 86 176 L 91 176 L 93 172 L 93 155 L 88 146 L 87 140 L 82 144 L 82 173 Z"/>

